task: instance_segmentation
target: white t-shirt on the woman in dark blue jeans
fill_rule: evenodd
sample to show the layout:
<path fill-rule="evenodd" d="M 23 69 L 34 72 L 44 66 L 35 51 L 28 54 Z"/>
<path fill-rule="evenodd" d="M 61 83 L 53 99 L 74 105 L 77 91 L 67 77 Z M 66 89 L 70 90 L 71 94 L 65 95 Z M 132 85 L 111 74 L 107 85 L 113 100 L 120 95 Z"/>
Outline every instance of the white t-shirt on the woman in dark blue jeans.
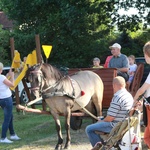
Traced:
<path fill-rule="evenodd" d="M 0 99 L 7 98 L 12 95 L 9 87 L 3 83 L 5 79 L 6 77 L 0 74 Z"/>

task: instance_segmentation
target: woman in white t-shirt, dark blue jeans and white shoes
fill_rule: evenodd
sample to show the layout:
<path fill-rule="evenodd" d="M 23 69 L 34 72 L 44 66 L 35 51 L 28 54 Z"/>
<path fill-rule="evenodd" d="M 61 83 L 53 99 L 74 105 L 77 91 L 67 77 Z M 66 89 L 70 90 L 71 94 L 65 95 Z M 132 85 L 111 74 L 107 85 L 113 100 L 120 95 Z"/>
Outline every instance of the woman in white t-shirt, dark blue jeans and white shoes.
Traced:
<path fill-rule="evenodd" d="M 14 72 L 10 69 L 7 74 L 10 77 L 8 80 L 4 75 L 2 75 L 3 64 L 0 62 L 0 106 L 4 112 L 4 121 L 2 124 L 2 132 L 0 143 L 13 143 L 11 140 L 20 140 L 20 138 L 15 134 L 13 128 L 13 102 L 12 102 L 12 93 L 9 87 L 14 86 Z M 10 140 L 7 139 L 7 130 L 10 132 Z"/>

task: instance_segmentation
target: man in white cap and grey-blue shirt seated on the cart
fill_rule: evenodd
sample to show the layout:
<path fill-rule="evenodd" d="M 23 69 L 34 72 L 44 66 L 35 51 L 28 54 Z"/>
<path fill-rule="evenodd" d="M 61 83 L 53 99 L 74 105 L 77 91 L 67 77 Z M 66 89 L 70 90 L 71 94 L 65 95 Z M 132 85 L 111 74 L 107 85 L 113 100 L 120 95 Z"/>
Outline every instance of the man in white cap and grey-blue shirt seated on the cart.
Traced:
<path fill-rule="evenodd" d="M 109 47 L 113 57 L 109 62 L 109 68 L 117 68 L 117 75 L 122 76 L 125 81 L 128 81 L 129 75 L 129 60 L 126 55 L 121 54 L 121 46 L 118 43 Z"/>

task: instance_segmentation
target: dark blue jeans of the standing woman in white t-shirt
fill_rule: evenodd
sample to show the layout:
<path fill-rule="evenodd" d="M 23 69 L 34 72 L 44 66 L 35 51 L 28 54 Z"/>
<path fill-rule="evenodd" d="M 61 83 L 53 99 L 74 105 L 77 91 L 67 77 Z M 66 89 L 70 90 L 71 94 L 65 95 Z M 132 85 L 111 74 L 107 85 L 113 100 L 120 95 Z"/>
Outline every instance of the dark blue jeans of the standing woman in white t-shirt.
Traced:
<path fill-rule="evenodd" d="M 13 128 L 13 103 L 12 97 L 0 99 L 0 106 L 4 111 L 4 122 L 2 124 L 2 133 L 1 138 L 6 138 L 7 130 L 9 129 L 10 135 L 14 135 L 14 128 Z"/>

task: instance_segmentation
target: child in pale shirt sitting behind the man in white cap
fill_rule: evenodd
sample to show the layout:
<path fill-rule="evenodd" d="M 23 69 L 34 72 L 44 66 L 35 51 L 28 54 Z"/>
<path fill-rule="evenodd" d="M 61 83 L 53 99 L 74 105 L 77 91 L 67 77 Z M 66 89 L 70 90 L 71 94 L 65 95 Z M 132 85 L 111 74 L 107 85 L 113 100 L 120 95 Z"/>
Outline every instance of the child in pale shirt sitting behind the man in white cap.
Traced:
<path fill-rule="evenodd" d="M 133 78 L 134 78 L 134 74 L 135 74 L 135 71 L 137 69 L 137 65 L 135 64 L 135 56 L 134 55 L 130 55 L 128 57 L 129 59 L 129 80 L 127 81 L 127 84 L 128 84 L 128 87 L 130 87 L 132 81 L 133 81 Z"/>

